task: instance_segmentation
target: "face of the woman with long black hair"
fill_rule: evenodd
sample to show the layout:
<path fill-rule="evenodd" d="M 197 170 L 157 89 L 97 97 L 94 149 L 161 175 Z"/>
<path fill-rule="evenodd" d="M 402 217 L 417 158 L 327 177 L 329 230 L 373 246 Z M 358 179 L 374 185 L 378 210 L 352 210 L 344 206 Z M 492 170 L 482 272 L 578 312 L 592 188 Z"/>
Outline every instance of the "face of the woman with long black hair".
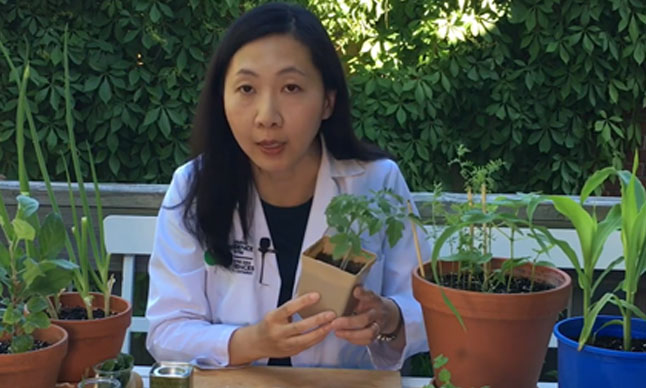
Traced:
<path fill-rule="evenodd" d="M 334 108 L 306 46 L 269 35 L 242 46 L 224 80 L 224 111 L 240 148 L 256 170 L 298 172 L 318 157 L 314 141 Z M 318 160 L 316 160 L 318 163 Z"/>

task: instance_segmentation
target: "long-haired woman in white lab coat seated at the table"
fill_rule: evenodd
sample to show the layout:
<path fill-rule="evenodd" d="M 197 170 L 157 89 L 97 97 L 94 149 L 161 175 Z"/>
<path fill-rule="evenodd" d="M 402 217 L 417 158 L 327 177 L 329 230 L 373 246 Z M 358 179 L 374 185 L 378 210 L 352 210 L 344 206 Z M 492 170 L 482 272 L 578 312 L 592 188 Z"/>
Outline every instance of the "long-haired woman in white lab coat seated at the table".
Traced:
<path fill-rule="evenodd" d="M 314 15 L 273 3 L 233 23 L 209 67 L 193 151 L 164 198 L 150 261 L 156 359 L 399 369 L 427 350 L 410 226 L 392 248 L 383 234 L 362 240 L 378 260 L 353 315 L 297 314 L 319 298 L 292 296 L 330 200 L 384 187 L 410 198 L 397 165 L 353 134 L 343 70 Z"/>

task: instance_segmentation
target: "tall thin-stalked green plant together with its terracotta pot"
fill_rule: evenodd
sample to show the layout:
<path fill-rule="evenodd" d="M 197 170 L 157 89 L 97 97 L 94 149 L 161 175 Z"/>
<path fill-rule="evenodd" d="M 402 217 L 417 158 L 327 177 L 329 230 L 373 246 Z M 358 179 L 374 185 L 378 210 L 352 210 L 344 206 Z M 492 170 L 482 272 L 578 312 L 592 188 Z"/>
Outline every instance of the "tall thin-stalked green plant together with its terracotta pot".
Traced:
<path fill-rule="evenodd" d="M 89 207 L 89 199 L 81 173 L 79 151 L 76 147 L 74 136 L 67 35 L 66 27 L 63 44 L 65 121 L 74 177 L 76 178 L 81 199 L 81 212 L 77 214 L 72 179 L 69 171 L 67 171 L 67 166 L 65 166 L 74 227 L 72 228 L 73 241 L 65 234 L 64 242 L 69 260 L 77 264 L 72 276 L 75 292 L 54 295 L 51 298 L 53 307 L 48 309 L 48 312 L 52 321 L 63 327 L 69 334 L 69 349 L 61 367 L 58 381 L 78 382 L 84 375 L 91 372 L 93 365 L 101 360 L 116 357 L 119 354 L 125 332 L 130 325 L 132 307 L 125 299 L 111 294 L 114 278 L 109 274 L 110 257 L 106 252 L 103 238 L 101 197 L 92 154 L 88 147 L 94 199 L 97 206 L 96 219 L 92 217 Z M 15 69 L 6 49 L 1 48 L 9 67 Z M 43 152 L 38 142 L 39 137 L 28 106 L 25 106 L 24 113 L 29 124 L 34 150 L 40 172 L 47 187 L 50 203 L 54 211 L 60 213 L 51 187 L 47 166 L 42 156 Z M 93 220 L 98 223 L 98 237 L 94 232 Z M 96 266 L 96 271 L 93 269 L 93 265 Z M 93 285 L 100 291 L 99 293 L 92 292 Z"/>

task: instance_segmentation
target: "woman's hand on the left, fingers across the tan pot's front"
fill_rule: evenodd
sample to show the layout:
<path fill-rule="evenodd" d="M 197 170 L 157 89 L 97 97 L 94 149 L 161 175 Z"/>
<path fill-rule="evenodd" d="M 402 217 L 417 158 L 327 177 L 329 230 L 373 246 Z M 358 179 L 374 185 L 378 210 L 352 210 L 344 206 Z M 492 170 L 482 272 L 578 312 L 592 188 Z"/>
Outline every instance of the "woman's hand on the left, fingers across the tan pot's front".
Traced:
<path fill-rule="evenodd" d="M 292 322 L 292 315 L 319 299 L 316 292 L 301 295 L 270 311 L 259 323 L 236 330 L 229 341 L 229 363 L 291 357 L 323 341 L 332 330 L 334 312 L 324 311 Z"/>

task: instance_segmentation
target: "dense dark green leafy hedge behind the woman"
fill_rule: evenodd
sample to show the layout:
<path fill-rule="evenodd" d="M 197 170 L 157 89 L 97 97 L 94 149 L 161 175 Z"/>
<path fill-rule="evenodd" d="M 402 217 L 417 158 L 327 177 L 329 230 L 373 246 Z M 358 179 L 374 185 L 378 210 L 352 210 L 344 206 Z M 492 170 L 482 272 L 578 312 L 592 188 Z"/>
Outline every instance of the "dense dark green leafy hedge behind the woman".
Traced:
<path fill-rule="evenodd" d="M 30 58 L 29 95 L 57 177 L 65 23 L 76 133 L 101 179 L 167 182 L 186 158 L 218 37 L 260 2 L 0 0 L 0 38 L 16 63 Z M 415 190 L 437 180 L 460 189 L 447 168 L 459 143 L 476 161 L 507 162 L 501 191 L 572 193 L 640 142 L 643 0 L 299 2 L 347 64 L 357 132 L 394 153 Z M 0 74 L 0 173 L 11 178 L 17 93 L 3 61 Z"/>

